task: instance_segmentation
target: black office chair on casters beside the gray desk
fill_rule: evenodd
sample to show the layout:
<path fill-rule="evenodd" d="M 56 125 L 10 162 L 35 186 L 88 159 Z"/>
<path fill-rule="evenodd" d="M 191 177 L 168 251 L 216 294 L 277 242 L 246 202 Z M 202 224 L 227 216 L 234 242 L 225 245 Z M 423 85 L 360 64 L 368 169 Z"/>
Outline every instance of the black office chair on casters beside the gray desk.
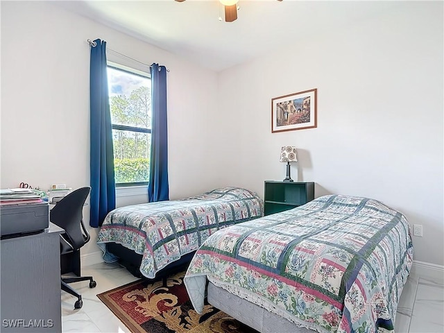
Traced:
<path fill-rule="evenodd" d="M 74 303 L 74 308 L 80 309 L 83 305 L 80 293 L 72 289 L 68 283 L 89 280 L 89 288 L 96 287 L 96 282 L 92 276 L 80 276 L 80 248 L 87 244 L 89 232 L 83 224 L 83 205 L 89 194 L 90 187 L 82 187 L 67 194 L 51 210 L 49 220 L 65 229 L 65 233 L 60 235 L 60 266 L 61 274 L 75 273 L 76 277 L 63 278 L 62 290 L 76 296 L 78 300 Z"/>

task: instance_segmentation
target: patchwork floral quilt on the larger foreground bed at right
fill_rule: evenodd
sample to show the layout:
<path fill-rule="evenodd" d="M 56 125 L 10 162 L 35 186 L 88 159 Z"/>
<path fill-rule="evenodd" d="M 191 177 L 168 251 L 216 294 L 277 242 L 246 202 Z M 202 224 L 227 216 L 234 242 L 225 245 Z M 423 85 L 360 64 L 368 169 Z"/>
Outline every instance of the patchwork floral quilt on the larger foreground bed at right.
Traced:
<path fill-rule="evenodd" d="M 300 327 L 393 332 L 412 260 L 404 215 L 331 195 L 212 234 L 184 281 L 198 312 L 210 280 Z"/>

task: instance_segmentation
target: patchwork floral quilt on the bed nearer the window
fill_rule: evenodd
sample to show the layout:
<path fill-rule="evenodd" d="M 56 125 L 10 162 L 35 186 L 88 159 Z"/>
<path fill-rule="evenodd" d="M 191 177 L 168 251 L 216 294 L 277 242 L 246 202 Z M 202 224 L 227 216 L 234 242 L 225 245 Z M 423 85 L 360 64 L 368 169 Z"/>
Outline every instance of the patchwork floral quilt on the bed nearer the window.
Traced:
<path fill-rule="evenodd" d="M 257 194 L 239 187 L 223 187 L 182 200 L 119 207 L 110 212 L 99 231 L 97 244 L 105 262 L 116 258 L 105 243 L 115 242 L 143 255 L 140 272 L 155 278 L 157 271 L 182 255 L 197 250 L 221 228 L 263 216 Z"/>

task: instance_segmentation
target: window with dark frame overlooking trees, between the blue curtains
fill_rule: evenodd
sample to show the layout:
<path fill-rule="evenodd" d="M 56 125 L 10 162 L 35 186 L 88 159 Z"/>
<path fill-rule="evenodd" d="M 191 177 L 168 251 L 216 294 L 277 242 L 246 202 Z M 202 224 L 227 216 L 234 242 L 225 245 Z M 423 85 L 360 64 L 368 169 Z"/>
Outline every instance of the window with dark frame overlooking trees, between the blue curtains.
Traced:
<path fill-rule="evenodd" d="M 108 65 L 108 89 L 117 187 L 148 184 L 151 152 L 151 78 Z"/>

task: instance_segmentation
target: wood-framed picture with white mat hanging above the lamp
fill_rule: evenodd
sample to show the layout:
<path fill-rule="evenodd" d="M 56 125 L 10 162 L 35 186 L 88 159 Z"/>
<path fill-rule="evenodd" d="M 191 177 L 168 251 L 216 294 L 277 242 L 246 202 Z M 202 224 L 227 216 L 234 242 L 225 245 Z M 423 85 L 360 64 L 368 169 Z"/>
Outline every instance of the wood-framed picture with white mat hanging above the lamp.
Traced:
<path fill-rule="evenodd" d="M 271 99 L 271 133 L 316 128 L 318 89 Z"/>

